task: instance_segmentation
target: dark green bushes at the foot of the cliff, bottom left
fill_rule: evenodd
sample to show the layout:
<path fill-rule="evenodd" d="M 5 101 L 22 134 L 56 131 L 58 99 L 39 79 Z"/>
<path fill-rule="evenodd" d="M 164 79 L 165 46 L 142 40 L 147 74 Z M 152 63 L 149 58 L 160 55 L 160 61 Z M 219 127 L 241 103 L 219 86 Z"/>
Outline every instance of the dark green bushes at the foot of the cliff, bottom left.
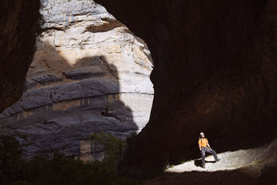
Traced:
<path fill-rule="evenodd" d="M 105 157 L 102 161 L 84 164 L 80 159 L 63 155 L 54 155 L 53 159 L 36 156 L 26 160 L 14 136 L 0 136 L 0 184 L 141 184 L 116 173 L 126 146 L 124 140 L 103 132 L 93 134 L 91 139 L 102 146 Z"/>

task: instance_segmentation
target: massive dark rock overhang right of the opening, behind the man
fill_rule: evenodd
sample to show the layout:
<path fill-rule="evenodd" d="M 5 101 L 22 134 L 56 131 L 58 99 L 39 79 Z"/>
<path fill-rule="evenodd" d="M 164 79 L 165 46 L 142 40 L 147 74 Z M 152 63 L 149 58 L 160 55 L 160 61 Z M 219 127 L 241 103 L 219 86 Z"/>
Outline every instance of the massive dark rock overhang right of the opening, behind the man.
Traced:
<path fill-rule="evenodd" d="M 234 149 L 247 147 L 235 146 L 240 141 L 271 139 L 276 129 L 274 1 L 96 2 L 145 39 L 155 62 L 154 109 L 127 165 L 142 166 L 140 161 L 189 143 L 177 152 L 185 155 L 204 127 L 222 150 L 225 134 L 238 139 Z M 216 109 L 218 103 L 222 109 Z"/>

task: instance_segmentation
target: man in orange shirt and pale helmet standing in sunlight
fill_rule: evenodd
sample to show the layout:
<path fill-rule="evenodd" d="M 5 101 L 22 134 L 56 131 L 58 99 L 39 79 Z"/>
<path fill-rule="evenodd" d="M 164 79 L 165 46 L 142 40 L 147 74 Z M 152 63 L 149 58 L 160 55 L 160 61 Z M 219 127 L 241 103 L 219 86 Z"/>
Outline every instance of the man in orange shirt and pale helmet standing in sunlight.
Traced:
<path fill-rule="evenodd" d="M 205 135 L 203 132 L 200 133 L 200 139 L 198 141 L 199 150 L 202 153 L 202 167 L 205 168 L 205 155 L 206 152 L 209 152 L 215 157 L 215 161 L 220 161 L 220 159 L 217 158 L 215 150 L 211 149 L 211 146 L 208 144 L 208 139 L 205 138 Z"/>

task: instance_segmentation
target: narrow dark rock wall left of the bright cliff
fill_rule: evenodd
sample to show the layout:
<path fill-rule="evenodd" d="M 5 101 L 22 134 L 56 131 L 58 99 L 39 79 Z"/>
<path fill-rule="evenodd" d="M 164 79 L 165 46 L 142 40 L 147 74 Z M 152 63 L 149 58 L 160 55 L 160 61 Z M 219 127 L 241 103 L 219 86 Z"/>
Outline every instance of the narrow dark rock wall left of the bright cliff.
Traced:
<path fill-rule="evenodd" d="M 0 112 L 19 100 L 23 93 L 39 30 L 39 4 L 37 0 L 1 1 Z"/>

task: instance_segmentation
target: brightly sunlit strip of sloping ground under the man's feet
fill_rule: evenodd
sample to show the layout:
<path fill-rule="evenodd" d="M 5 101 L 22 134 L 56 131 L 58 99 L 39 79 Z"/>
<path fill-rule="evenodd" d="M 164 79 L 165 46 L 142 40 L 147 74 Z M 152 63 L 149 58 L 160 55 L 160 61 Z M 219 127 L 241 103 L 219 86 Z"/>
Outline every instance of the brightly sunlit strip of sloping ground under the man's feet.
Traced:
<path fill-rule="evenodd" d="M 168 168 L 166 172 L 184 173 L 192 171 L 213 172 L 219 170 L 241 170 L 248 175 L 257 177 L 265 167 L 276 166 L 277 139 L 268 145 L 257 148 L 218 153 L 217 157 L 220 159 L 218 162 L 215 162 L 213 155 L 206 157 L 206 168 L 202 168 L 202 161 L 199 158 Z"/>

